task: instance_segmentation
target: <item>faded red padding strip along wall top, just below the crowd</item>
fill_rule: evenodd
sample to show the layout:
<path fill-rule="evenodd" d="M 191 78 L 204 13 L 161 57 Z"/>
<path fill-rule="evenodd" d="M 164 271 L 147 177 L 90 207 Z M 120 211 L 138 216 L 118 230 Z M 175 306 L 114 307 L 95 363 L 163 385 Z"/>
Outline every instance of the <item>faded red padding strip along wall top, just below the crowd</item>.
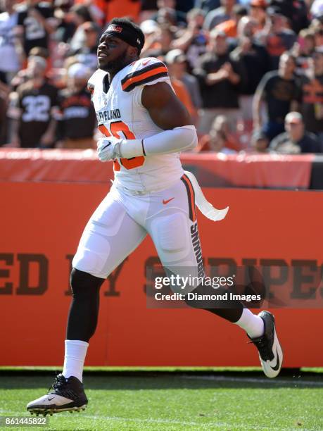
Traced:
<path fill-rule="evenodd" d="M 313 154 L 183 153 L 181 160 L 206 187 L 307 189 L 314 157 Z M 92 149 L 0 149 L 2 181 L 108 182 L 112 178 L 112 163 L 101 163 Z"/>

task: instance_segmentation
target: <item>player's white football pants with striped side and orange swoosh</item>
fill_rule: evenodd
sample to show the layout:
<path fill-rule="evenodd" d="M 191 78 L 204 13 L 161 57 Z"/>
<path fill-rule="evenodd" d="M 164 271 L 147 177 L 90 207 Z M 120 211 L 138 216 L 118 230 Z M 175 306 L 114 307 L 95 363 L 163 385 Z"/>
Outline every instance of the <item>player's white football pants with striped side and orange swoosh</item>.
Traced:
<path fill-rule="evenodd" d="M 147 194 L 114 184 L 89 219 L 72 266 L 106 278 L 147 233 L 165 270 L 203 277 L 194 188 L 187 175 L 168 189 Z"/>

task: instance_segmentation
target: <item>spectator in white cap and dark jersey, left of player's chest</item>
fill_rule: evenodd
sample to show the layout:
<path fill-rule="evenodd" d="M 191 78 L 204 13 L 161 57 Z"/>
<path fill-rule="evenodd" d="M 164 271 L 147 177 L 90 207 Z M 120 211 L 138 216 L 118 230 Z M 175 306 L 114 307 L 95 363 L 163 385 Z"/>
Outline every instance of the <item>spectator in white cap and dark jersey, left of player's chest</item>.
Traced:
<path fill-rule="evenodd" d="M 96 115 L 87 90 L 91 70 L 83 63 L 68 69 L 68 85 L 58 94 L 57 143 L 59 148 L 94 148 Z"/>

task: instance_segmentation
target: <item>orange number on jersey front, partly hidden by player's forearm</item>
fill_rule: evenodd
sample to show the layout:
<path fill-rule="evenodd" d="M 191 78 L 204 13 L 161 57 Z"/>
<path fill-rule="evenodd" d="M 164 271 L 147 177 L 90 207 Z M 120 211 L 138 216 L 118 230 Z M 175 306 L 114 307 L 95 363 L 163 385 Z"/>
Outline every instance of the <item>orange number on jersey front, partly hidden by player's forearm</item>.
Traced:
<path fill-rule="evenodd" d="M 99 130 L 103 133 L 103 135 L 106 135 L 107 137 L 113 135 L 116 138 L 122 138 L 122 136 L 120 136 L 120 132 L 122 132 L 122 134 L 125 136 L 125 139 L 136 139 L 132 131 L 129 130 L 129 127 L 125 123 L 123 123 L 123 121 L 113 121 L 112 123 L 110 123 L 110 131 L 105 125 L 101 124 L 99 125 Z M 144 156 L 120 158 L 120 163 L 126 169 L 139 168 L 139 166 L 142 166 L 144 164 L 144 161 Z M 120 164 L 118 160 L 113 161 L 113 168 L 114 170 L 120 170 Z"/>

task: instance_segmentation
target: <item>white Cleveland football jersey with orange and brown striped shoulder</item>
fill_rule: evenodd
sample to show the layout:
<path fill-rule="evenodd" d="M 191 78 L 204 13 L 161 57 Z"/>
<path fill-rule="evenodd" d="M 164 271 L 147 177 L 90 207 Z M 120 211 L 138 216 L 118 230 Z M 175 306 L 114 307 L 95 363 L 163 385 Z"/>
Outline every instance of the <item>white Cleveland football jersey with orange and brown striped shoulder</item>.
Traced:
<path fill-rule="evenodd" d="M 165 64 L 157 58 L 141 58 L 120 70 L 110 85 L 107 75 L 98 69 L 89 79 L 99 130 L 106 136 L 125 139 L 162 132 L 141 104 L 141 92 L 145 85 L 157 82 L 171 86 Z M 120 158 L 114 161 L 113 169 L 115 182 L 142 192 L 166 189 L 184 173 L 179 153 Z"/>

